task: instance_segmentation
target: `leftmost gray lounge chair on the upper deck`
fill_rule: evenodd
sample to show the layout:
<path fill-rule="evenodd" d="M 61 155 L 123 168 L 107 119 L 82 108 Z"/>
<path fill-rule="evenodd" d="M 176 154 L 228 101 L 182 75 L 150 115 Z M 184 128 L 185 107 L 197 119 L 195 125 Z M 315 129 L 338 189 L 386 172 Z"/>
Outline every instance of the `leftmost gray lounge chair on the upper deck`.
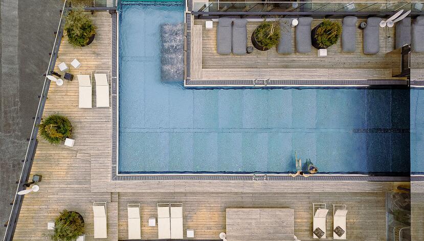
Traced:
<path fill-rule="evenodd" d="M 231 53 L 231 18 L 218 18 L 216 29 L 216 52 L 220 55 L 229 55 Z"/>

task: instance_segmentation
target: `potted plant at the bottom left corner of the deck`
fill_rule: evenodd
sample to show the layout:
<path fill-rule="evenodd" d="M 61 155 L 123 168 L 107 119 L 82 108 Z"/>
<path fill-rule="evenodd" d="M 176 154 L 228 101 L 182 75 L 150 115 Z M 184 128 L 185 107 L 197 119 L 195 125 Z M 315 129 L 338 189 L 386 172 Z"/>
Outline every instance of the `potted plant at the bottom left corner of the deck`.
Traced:
<path fill-rule="evenodd" d="M 63 209 L 55 220 L 53 241 L 74 241 L 84 232 L 84 219 L 76 211 Z"/>

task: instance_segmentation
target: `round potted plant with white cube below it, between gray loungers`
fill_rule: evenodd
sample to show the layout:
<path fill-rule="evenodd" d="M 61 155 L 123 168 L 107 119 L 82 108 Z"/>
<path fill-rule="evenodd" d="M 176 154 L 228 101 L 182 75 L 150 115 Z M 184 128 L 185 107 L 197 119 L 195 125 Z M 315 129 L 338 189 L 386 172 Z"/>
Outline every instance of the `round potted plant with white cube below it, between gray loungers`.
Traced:
<path fill-rule="evenodd" d="M 312 46 L 317 49 L 328 48 L 337 43 L 342 34 L 342 24 L 340 22 L 324 19 L 311 31 Z"/>

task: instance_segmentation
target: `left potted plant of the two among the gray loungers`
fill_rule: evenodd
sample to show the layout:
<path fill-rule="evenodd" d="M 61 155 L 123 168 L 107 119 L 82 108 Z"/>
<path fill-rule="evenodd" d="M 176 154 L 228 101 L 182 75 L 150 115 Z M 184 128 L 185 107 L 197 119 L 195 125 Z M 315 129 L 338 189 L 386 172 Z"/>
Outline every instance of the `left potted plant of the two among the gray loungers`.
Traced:
<path fill-rule="evenodd" d="M 252 33 L 252 44 L 255 48 L 265 51 L 278 44 L 280 39 L 279 21 L 263 20 Z"/>

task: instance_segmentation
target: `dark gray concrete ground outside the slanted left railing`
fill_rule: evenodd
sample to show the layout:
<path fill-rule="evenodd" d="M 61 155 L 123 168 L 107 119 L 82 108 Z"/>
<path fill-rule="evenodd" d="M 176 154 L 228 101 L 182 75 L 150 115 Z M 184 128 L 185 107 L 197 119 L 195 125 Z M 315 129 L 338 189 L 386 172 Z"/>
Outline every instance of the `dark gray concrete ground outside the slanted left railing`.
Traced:
<path fill-rule="evenodd" d="M 1 0 L 0 239 L 9 219 L 62 6 L 62 0 Z"/>

